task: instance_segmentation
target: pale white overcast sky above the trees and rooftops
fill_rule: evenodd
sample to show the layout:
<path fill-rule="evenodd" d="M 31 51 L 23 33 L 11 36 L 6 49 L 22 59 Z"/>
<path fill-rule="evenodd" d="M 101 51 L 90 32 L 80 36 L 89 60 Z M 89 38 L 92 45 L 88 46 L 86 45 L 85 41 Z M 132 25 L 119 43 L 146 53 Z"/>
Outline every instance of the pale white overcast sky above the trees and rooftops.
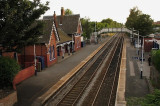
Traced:
<path fill-rule="evenodd" d="M 73 14 L 80 14 L 81 18 L 91 21 L 102 21 L 111 18 L 119 23 L 125 23 L 130 9 L 138 7 L 144 14 L 148 14 L 154 21 L 160 21 L 160 0 L 41 0 L 49 1 L 50 9 L 44 15 L 60 15 L 61 7 L 70 9 Z"/>

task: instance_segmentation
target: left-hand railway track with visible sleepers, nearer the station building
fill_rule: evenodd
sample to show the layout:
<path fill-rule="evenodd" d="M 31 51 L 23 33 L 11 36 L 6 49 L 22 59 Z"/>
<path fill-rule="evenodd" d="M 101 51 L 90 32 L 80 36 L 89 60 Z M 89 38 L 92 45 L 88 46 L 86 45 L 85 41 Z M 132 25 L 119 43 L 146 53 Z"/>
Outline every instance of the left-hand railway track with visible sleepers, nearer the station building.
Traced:
<path fill-rule="evenodd" d="M 110 50 L 113 46 L 116 45 L 116 42 L 119 41 L 118 37 L 116 39 L 112 39 L 106 48 L 103 50 L 102 54 L 98 57 L 98 59 L 89 67 L 86 73 L 81 77 L 81 79 L 73 86 L 73 88 L 60 100 L 57 106 L 71 106 L 76 105 L 77 101 L 83 94 L 86 87 L 89 85 L 91 80 L 94 78 L 97 73 L 98 68 L 103 63 L 105 57 L 110 53 Z"/>

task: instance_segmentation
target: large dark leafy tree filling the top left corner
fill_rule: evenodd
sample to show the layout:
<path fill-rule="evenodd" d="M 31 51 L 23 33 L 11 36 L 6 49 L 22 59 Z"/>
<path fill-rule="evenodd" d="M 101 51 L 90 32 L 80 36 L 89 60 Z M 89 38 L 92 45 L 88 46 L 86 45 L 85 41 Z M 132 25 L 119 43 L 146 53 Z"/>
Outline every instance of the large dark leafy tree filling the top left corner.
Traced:
<path fill-rule="evenodd" d="M 41 4 L 40 0 L 0 1 L 0 43 L 3 51 L 19 51 L 24 45 L 37 41 L 43 24 L 35 21 L 49 9 L 48 4 Z"/>

